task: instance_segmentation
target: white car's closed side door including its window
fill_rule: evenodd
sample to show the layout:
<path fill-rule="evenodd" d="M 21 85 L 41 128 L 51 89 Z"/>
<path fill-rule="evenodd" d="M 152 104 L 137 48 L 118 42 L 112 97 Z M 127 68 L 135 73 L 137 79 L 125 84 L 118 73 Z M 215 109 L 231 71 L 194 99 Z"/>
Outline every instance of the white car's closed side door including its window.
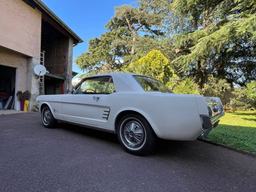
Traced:
<path fill-rule="evenodd" d="M 85 79 L 62 98 L 63 119 L 97 125 L 98 103 L 105 93 L 109 76 Z"/>

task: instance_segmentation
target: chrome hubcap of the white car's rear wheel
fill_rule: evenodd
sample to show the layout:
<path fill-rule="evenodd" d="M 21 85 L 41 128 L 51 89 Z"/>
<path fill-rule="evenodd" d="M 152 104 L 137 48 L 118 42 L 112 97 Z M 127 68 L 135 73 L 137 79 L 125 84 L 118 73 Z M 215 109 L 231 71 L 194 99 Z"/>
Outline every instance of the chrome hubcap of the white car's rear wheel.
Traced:
<path fill-rule="evenodd" d="M 129 121 L 123 129 L 126 142 L 133 147 L 139 146 L 144 139 L 144 129 L 136 121 Z"/>

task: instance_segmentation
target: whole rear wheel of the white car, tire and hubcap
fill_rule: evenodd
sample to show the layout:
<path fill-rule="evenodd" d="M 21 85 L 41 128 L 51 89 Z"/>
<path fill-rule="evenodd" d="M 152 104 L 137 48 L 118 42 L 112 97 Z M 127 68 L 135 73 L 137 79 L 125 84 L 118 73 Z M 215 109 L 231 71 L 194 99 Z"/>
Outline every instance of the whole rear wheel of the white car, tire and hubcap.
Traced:
<path fill-rule="evenodd" d="M 156 144 L 156 135 L 148 121 L 138 114 L 127 114 L 118 122 L 117 137 L 133 155 L 146 155 Z"/>

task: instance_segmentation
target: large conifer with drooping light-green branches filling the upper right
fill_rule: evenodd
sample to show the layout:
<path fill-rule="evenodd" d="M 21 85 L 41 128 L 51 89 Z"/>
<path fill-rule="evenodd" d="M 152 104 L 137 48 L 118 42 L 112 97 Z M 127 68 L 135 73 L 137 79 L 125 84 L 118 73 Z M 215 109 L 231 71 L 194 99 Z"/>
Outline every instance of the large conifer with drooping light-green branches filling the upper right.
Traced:
<path fill-rule="evenodd" d="M 177 54 L 171 64 L 183 75 L 195 77 L 201 88 L 209 74 L 239 85 L 256 78 L 255 0 L 140 0 L 139 4 L 163 16 L 170 48 Z"/>

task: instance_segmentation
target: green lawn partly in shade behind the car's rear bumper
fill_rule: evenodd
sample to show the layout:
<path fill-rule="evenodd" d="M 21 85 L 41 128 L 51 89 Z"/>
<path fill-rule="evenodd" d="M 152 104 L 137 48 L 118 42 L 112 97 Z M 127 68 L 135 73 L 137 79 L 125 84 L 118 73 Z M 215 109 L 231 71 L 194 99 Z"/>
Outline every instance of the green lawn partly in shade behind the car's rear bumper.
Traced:
<path fill-rule="evenodd" d="M 226 111 L 206 139 L 256 153 L 256 111 Z"/>

